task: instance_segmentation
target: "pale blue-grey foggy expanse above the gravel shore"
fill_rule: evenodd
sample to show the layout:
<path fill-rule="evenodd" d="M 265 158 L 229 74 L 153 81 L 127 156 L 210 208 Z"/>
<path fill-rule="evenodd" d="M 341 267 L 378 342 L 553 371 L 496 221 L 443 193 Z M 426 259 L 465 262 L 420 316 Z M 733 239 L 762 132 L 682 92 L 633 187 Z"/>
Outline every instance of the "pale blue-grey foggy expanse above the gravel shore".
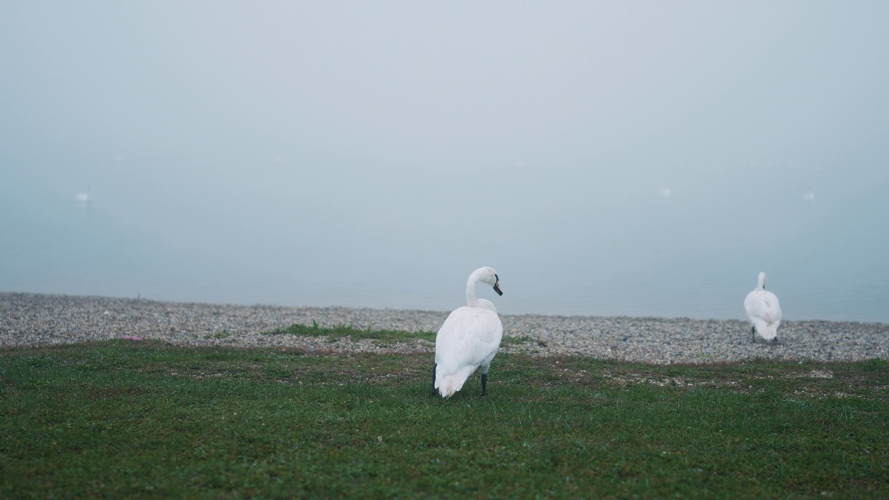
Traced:
<path fill-rule="evenodd" d="M 889 3 L 4 2 L 0 290 L 889 321 Z"/>

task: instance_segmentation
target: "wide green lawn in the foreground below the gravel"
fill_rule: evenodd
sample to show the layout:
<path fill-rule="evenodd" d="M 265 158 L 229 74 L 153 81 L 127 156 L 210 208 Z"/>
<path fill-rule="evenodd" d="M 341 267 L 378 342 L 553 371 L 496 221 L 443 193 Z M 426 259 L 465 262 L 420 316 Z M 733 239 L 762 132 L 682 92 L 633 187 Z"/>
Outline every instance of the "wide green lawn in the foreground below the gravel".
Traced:
<path fill-rule="evenodd" d="M 0 497 L 889 496 L 889 366 L 0 351 Z"/>

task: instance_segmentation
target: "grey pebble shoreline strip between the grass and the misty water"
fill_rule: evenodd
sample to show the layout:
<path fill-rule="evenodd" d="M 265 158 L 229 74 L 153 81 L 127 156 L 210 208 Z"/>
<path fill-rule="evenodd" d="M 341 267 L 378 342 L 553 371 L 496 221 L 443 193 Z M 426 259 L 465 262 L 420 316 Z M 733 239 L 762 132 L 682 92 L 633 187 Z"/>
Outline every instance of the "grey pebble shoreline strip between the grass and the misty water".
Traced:
<path fill-rule="evenodd" d="M 740 305 L 739 305 L 740 307 Z M 121 337 L 187 346 L 224 345 L 335 352 L 428 352 L 435 344 L 331 342 L 325 337 L 267 335 L 294 323 L 321 327 L 435 332 L 447 311 L 279 307 L 157 302 L 111 297 L 0 292 L 0 348 L 99 341 Z M 889 325 L 782 321 L 776 344 L 753 343 L 749 323 L 736 319 L 606 318 L 503 315 L 501 351 L 534 356 L 579 355 L 655 364 L 744 359 L 854 361 L 889 359 Z"/>

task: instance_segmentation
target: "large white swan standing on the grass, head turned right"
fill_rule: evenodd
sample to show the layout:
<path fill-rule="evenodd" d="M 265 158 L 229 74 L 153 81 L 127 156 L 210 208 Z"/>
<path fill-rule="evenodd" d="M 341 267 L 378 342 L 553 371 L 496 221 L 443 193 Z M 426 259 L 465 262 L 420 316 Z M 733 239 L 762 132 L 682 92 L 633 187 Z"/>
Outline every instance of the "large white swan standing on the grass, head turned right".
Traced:
<path fill-rule="evenodd" d="M 487 393 L 488 367 L 500 348 L 503 326 L 491 301 L 476 297 L 478 282 L 502 295 L 500 278 L 489 267 L 478 268 L 466 282 L 466 303 L 453 310 L 436 335 L 436 365 L 432 367 L 432 394 L 442 398 L 460 391 L 478 367 L 482 368 L 482 394 Z"/>

